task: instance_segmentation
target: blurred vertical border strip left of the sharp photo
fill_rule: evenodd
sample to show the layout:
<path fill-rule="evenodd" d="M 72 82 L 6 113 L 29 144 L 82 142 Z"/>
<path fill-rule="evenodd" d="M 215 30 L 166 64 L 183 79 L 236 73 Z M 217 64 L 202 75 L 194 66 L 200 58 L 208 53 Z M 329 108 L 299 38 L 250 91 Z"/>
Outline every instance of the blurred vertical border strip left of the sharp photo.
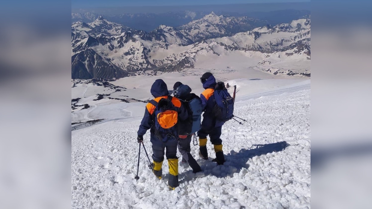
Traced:
<path fill-rule="evenodd" d="M 71 1 L 0 8 L 1 208 L 71 207 Z"/>

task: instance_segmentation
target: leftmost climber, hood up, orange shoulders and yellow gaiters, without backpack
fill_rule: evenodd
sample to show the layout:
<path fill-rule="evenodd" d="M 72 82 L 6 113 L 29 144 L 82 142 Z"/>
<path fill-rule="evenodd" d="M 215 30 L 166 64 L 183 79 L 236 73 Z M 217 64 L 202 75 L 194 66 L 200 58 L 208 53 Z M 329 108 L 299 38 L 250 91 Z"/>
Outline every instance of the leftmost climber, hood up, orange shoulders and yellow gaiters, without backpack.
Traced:
<path fill-rule="evenodd" d="M 178 186 L 178 158 L 177 158 L 177 142 L 178 142 L 178 133 L 175 136 L 167 136 L 165 138 L 159 138 L 155 135 L 155 116 L 154 111 L 156 108 L 156 104 L 161 99 L 169 99 L 171 103 L 173 103 L 177 113 L 178 118 L 180 120 L 186 120 L 187 110 L 181 104 L 180 100 L 176 97 L 169 96 L 167 84 L 164 83 L 163 80 L 158 79 L 156 80 L 153 85 L 151 86 L 150 90 L 151 94 L 155 97 L 155 99 L 151 100 L 145 109 L 145 115 L 142 118 L 140 128 L 137 132 L 137 141 L 143 141 L 143 135 L 146 133 L 148 129 L 150 129 L 150 141 L 153 144 L 153 160 L 154 160 L 154 168 L 153 173 L 158 179 L 161 179 L 162 176 L 162 169 L 161 166 L 164 160 L 164 154 L 167 157 L 168 165 L 169 165 L 169 180 L 168 185 L 171 189 L 175 189 Z M 155 104 L 155 105 L 154 105 Z M 164 150 L 166 149 L 166 153 Z"/>

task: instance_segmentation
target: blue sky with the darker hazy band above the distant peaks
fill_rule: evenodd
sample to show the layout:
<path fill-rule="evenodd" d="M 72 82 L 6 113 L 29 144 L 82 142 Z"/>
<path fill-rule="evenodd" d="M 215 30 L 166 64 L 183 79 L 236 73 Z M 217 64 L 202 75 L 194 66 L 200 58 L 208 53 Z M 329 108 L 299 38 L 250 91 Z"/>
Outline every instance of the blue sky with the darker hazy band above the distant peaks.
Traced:
<path fill-rule="evenodd" d="M 75 6 L 74 6 L 74 1 Z M 287 9 L 294 9 L 294 10 L 310 10 L 310 1 L 298 1 L 296 2 L 287 2 L 287 3 L 269 3 L 269 0 L 261 0 L 262 2 L 266 3 L 247 3 L 247 2 L 254 2 L 251 1 L 244 1 L 242 0 L 231 0 L 231 1 L 221 1 L 221 0 L 201 0 L 200 2 L 196 2 L 196 0 L 187 1 L 188 4 L 191 5 L 176 5 L 185 3 L 185 1 L 172 1 L 169 0 L 158 0 L 158 4 L 156 6 L 150 6 L 150 4 L 154 4 L 154 1 L 149 0 L 142 0 L 142 1 L 118 1 L 118 0 L 107 0 L 107 1 L 97 1 L 91 0 L 91 3 L 83 4 L 84 1 L 87 0 L 73 0 L 73 4 L 71 7 L 71 12 L 73 13 L 98 13 L 101 15 L 119 15 L 124 13 L 166 13 L 166 12 L 181 12 L 181 11 L 193 11 L 193 12 L 234 12 L 234 13 L 247 13 L 247 12 L 270 12 L 275 10 L 287 10 Z M 271 0 L 271 1 L 279 1 L 279 0 Z M 102 2 L 105 4 L 102 5 Z M 126 4 L 127 2 L 127 4 Z M 228 4 L 226 4 L 228 2 Z M 167 3 L 172 3 L 174 5 L 166 5 Z M 198 3 L 199 5 L 195 5 Z M 207 4 L 209 3 L 209 4 Z M 218 4 L 219 3 L 219 4 Z M 113 6 L 115 5 L 116 6 Z M 164 4 L 164 5 L 163 5 Z M 81 5 L 81 6 L 78 6 Z M 137 6 L 135 6 L 137 5 Z M 141 6 L 138 6 L 141 5 Z"/>

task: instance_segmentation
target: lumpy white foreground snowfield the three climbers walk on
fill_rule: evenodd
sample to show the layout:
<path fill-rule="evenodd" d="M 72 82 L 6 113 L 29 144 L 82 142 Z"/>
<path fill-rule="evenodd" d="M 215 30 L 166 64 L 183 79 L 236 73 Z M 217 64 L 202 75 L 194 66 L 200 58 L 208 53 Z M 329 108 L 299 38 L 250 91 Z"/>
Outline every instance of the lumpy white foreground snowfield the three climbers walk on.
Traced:
<path fill-rule="evenodd" d="M 180 186 L 171 191 L 167 162 L 163 179 L 156 179 L 141 148 L 137 182 L 141 120 L 99 123 L 72 132 L 72 208 L 310 208 L 310 80 L 260 93 L 251 93 L 239 79 L 229 82 L 239 86 L 234 115 L 248 122 L 223 126 L 224 165 L 211 162 L 210 142 L 209 161 L 192 145 L 203 172 L 179 167 Z M 151 155 L 149 131 L 144 144 Z"/>

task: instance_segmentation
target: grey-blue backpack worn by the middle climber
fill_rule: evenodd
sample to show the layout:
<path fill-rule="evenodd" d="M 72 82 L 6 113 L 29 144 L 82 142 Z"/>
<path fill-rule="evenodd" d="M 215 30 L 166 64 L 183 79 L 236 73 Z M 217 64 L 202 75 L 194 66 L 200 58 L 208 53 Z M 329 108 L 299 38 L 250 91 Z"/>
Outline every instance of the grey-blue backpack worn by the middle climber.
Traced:
<path fill-rule="evenodd" d="M 201 128 L 201 120 L 202 120 L 202 100 L 199 97 L 195 97 L 191 100 L 183 100 L 182 98 L 185 98 L 187 94 L 190 94 L 191 88 L 187 85 L 181 85 L 179 86 L 175 92 L 174 96 L 181 99 L 185 105 L 187 105 L 188 108 L 187 111 L 189 113 L 189 116 L 191 118 L 191 124 L 189 130 L 187 131 L 188 134 L 193 134 L 195 132 L 198 132 Z"/>

